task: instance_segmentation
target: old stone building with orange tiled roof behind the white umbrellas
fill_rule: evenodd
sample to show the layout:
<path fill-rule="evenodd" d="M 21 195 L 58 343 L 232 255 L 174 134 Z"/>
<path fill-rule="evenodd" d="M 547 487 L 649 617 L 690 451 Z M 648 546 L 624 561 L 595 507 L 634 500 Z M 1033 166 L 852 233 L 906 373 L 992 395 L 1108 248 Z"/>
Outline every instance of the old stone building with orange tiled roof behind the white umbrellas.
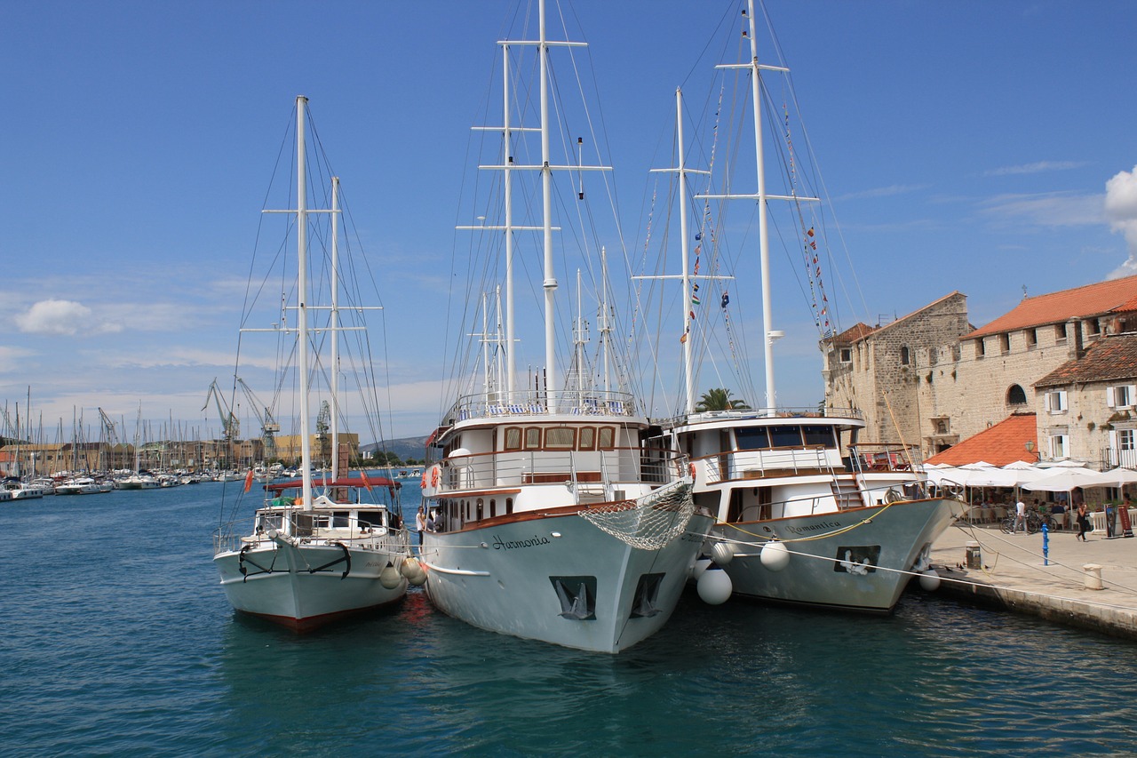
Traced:
<path fill-rule="evenodd" d="M 1110 451 L 1120 454 L 1134 442 L 1120 420 L 1109 420 L 1119 411 L 1105 395 L 1111 387 L 1132 386 L 1137 368 L 1129 370 L 1127 385 L 1123 368 L 1105 371 L 1092 359 L 1079 369 L 1078 362 L 1109 336 L 1128 332 L 1137 332 L 1137 277 L 1026 297 L 979 329 L 966 327 L 966 299 L 953 293 L 890 324 L 857 324 L 822 343 L 825 402 L 860 410 L 865 442 L 919 440 L 924 458 L 1014 414 L 1035 413 L 1043 460 L 1104 465 Z M 1131 362 L 1120 348 L 1110 353 L 1114 363 Z M 1084 371 L 1095 377 L 1090 384 L 1080 378 L 1062 384 Z M 1045 387 L 1036 385 L 1044 380 Z M 1063 402 L 1067 410 L 1057 405 Z M 1074 402 L 1079 411 L 1071 414 Z M 1082 403 L 1110 413 L 1087 414 Z M 1077 429 L 1062 423 L 1071 419 Z M 1110 438 L 1111 431 L 1118 434 Z"/>

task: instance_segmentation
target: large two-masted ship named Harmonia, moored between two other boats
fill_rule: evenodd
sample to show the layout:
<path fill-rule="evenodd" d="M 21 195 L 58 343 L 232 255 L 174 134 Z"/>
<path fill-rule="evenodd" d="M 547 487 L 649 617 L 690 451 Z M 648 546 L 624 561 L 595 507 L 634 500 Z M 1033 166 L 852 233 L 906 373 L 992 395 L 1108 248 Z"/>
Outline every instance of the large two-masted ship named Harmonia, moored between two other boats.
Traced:
<path fill-rule="evenodd" d="M 549 51 L 581 43 L 550 42 L 543 2 L 538 16 L 537 40 L 499 43 L 504 124 L 479 127 L 503 137 L 492 168 L 500 172 L 504 193 L 497 219 L 466 229 L 504 242 L 505 333 L 496 331 L 491 339 L 495 360 L 483 361 L 480 392 L 459 388 L 428 440 L 429 528 L 421 562 L 431 601 L 455 618 L 503 634 L 615 653 L 671 616 L 711 519 L 692 505 L 682 456 L 646 444 L 648 421 L 631 393 L 607 373 L 603 381 L 594 378 L 579 363 L 568 380 L 558 376 L 553 239 L 562 229 L 553 219 L 554 175 L 606 168 L 553 159 Z M 528 127 L 513 125 L 513 108 L 526 99 L 536 104 L 536 93 L 522 93 L 521 83 L 511 80 L 513 72 L 526 69 L 529 64 L 520 61 L 526 53 L 538 57 L 540 76 L 540 125 Z M 558 107 L 566 99 L 556 97 Z M 566 118 L 563 110 L 558 116 Z M 526 133 L 539 137 L 539 159 L 524 159 Z M 523 201 L 514 195 L 526 179 L 534 180 L 534 197 Z M 565 197 L 583 200 L 583 187 Z M 514 205 L 518 215 L 528 207 L 538 217 L 529 224 L 515 220 Z M 545 363 L 521 388 L 514 246 L 528 239 L 540 240 L 545 262 Z M 573 237 L 566 230 L 562 239 Z M 607 311 L 603 305 L 601 333 L 608 329 Z M 483 345 L 488 331 L 482 331 Z M 609 347 L 601 341 L 605 355 L 598 364 L 608 365 Z"/>

